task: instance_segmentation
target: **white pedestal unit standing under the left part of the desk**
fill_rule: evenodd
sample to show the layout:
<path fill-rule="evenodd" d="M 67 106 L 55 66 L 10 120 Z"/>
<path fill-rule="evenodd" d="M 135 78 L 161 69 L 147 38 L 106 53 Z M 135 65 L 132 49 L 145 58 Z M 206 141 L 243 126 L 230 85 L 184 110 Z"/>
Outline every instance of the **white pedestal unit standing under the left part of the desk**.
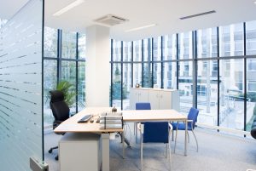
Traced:
<path fill-rule="evenodd" d="M 67 133 L 59 142 L 61 171 L 99 171 L 102 164 L 100 134 Z"/>

